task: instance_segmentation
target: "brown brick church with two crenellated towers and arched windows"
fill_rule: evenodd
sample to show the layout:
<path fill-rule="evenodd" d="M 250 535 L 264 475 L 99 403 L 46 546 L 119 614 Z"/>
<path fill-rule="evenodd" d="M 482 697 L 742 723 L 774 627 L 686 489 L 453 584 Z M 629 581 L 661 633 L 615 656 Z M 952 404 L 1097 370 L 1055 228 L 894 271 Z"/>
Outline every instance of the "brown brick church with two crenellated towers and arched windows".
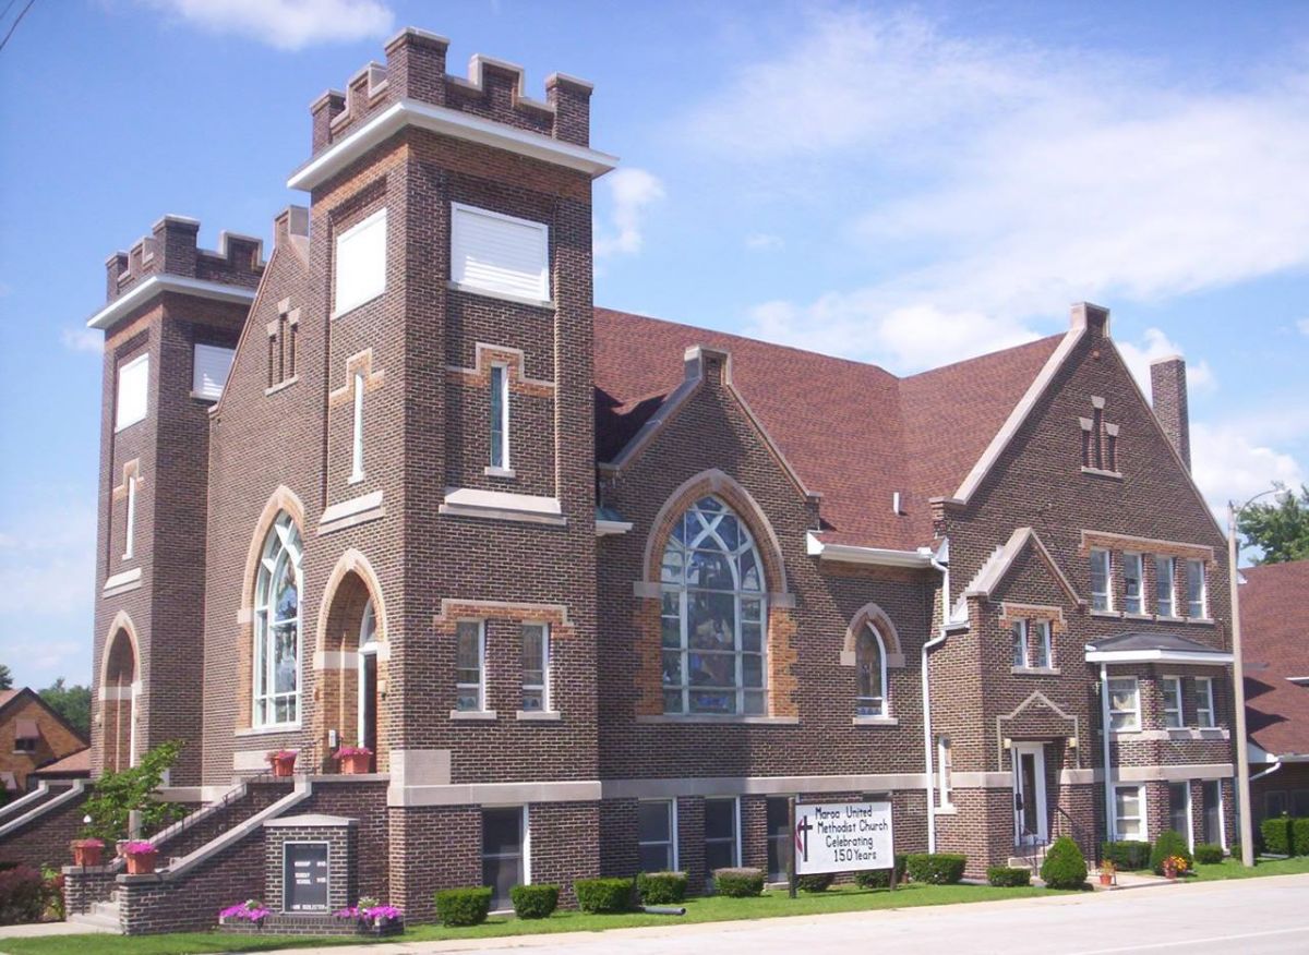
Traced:
<path fill-rule="evenodd" d="M 73 909 L 212 924 L 274 892 L 279 819 L 347 827 L 350 887 L 420 920 L 450 886 L 776 879 L 791 795 L 889 798 L 898 850 L 970 874 L 1229 845 L 1182 361 L 1147 399 L 1093 305 L 910 377 L 596 307 L 592 86 L 446 46 L 404 30 L 313 103 L 267 260 L 177 216 L 107 260 L 93 773 L 183 739 L 202 822 Z M 77 798 L 0 816 L 0 856 Z"/>

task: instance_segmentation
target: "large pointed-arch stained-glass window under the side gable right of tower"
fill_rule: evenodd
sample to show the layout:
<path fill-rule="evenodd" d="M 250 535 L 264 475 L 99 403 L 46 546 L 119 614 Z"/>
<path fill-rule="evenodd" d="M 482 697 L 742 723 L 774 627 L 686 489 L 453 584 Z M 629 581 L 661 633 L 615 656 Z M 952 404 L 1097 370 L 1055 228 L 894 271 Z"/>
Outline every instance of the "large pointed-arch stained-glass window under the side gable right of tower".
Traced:
<path fill-rule="evenodd" d="M 763 564 L 716 497 L 673 525 L 662 563 L 664 712 L 762 714 Z"/>

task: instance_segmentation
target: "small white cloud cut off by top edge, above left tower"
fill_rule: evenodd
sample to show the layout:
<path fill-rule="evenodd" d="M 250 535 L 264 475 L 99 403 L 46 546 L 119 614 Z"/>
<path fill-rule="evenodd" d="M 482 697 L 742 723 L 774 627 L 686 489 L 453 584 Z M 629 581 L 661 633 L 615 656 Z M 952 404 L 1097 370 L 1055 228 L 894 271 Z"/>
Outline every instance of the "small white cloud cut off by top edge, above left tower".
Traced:
<path fill-rule="evenodd" d="M 279 50 L 387 35 L 395 14 L 381 0 L 140 0 L 216 34 Z"/>

